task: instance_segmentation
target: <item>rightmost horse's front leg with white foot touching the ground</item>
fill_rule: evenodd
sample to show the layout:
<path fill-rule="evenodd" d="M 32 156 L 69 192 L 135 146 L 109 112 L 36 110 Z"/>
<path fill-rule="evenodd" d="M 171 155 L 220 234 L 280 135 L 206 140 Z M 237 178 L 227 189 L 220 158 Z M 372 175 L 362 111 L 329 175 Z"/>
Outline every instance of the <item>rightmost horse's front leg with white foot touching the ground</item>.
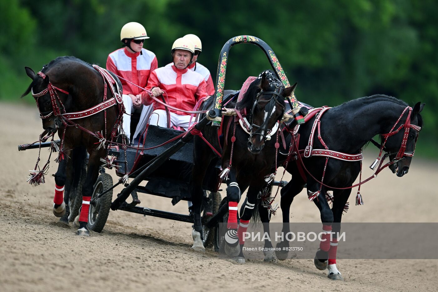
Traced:
<path fill-rule="evenodd" d="M 342 219 L 342 212 L 344 210 L 345 204 L 347 203 L 347 200 L 350 196 L 351 189 L 346 190 L 335 190 L 333 192 L 333 236 L 332 240 L 330 242 L 330 249 L 329 249 L 329 266 L 328 266 L 328 274 L 327 277 L 329 277 L 332 280 L 343 280 L 343 277 L 341 273 L 336 268 L 336 253 L 338 250 L 338 238 L 337 234 L 341 231 L 341 219 Z"/>

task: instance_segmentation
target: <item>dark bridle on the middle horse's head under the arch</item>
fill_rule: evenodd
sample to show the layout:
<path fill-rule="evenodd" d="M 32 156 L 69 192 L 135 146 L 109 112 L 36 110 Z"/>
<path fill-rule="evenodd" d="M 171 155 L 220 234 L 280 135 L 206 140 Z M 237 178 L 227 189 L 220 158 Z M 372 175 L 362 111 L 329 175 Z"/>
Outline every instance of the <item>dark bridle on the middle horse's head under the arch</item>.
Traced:
<path fill-rule="evenodd" d="M 257 94 L 255 101 L 254 101 L 254 104 L 253 104 L 252 109 L 251 109 L 251 113 L 250 113 L 249 123 L 251 125 L 251 129 L 250 129 L 251 132 L 250 132 L 250 136 L 249 136 L 248 140 L 251 139 L 254 135 L 261 135 L 262 139 L 264 139 L 266 141 L 267 134 L 268 134 L 268 121 L 269 121 L 269 118 L 271 118 L 270 113 L 272 112 L 275 104 L 277 103 L 280 107 L 282 107 L 283 111 L 286 109 L 284 104 L 280 103 L 276 99 L 276 96 L 279 96 L 281 99 L 284 100 L 284 97 L 280 94 L 282 92 L 282 90 L 284 90 L 283 83 L 281 83 L 278 79 L 273 78 L 272 75 L 268 71 L 266 71 L 264 73 L 267 75 L 266 79 L 269 82 L 269 87 L 275 86 L 275 90 L 274 91 L 264 91 L 263 89 L 261 89 L 261 91 Z M 258 78 L 261 79 L 261 75 L 259 75 Z M 260 96 L 265 95 L 265 94 L 271 94 L 270 99 L 259 100 Z M 254 110 L 255 110 L 255 107 L 257 106 L 257 104 L 260 102 L 267 102 L 267 104 L 265 105 L 265 112 L 267 114 L 269 114 L 269 116 L 266 115 L 266 118 L 261 125 L 256 125 L 256 124 L 254 124 L 254 121 L 253 121 L 254 120 Z M 280 117 L 280 119 L 281 119 L 281 117 Z"/>

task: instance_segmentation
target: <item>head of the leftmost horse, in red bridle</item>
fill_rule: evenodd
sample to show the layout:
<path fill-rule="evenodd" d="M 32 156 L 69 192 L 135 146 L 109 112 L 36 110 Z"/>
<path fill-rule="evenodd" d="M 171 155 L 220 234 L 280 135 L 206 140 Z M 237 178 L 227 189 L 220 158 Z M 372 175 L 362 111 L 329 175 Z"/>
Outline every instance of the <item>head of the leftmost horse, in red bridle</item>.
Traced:
<path fill-rule="evenodd" d="M 47 132 L 56 132 L 61 125 L 59 115 L 64 111 L 68 93 L 52 85 L 48 75 L 42 72 L 35 74 L 29 67 L 25 67 L 25 70 L 32 83 L 21 97 L 32 92 L 42 119 L 42 128 Z"/>

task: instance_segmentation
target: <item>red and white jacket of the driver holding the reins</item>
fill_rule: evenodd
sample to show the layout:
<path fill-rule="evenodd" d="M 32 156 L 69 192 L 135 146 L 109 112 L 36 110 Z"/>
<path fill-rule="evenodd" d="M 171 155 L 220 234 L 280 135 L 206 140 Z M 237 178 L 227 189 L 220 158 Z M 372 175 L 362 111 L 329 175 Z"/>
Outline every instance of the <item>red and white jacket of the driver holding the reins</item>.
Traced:
<path fill-rule="evenodd" d="M 182 110 L 193 110 L 199 99 L 208 96 L 205 91 L 206 83 L 201 74 L 187 68 L 180 70 L 174 65 L 152 71 L 146 89 L 151 90 L 154 87 L 166 91 L 167 104 Z M 166 109 L 161 103 L 155 102 L 146 92 L 141 97 L 143 104 L 153 104 L 154 110 Z M 179 115 L 187 115 L 179 110 L 170 109 L 170 111 Z"/>

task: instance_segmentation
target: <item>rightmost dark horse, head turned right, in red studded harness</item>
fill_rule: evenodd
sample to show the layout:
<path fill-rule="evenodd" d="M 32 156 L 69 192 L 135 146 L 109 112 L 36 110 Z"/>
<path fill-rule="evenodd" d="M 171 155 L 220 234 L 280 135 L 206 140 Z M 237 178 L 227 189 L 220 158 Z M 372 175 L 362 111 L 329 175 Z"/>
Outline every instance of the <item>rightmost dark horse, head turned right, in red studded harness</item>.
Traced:
<path fill-rule="evenodd" d="M 326 236 L 323 235 L 322 238 L 328 239 L 320 242 L 314 264 L 319 270 L 328 269 L 330 279 L 343 279 L 336 268 L 337 238 L 333 236 L 330 242 L 329 232 L 336 234 L 341 229 L 342 214 L 352 190 L 351 186 L 362 170 L 360 160 L 362 149 L 375 135 L 379 135 L 381 152 L 376 162 L 370 166 L 373 169 L 376 166 L 379 167 L 375 174 L 377 175 L 385 166 L 389 166 L 398 177 L 407 174 L 415 152 L 418 134 L 423 126 L 423 119 L 420 115 L 423 108 L 424 103 L 420 102 L 412 108 L 404 101 L 391 96 L 366 96 L 337 107 L 323 109 L 325 113 L 322 114 L 320 111 L 316 116 L 306 119 L 306 123 L 300 126 L 294 136 L 290 132 L 286 135 L 286 141 L 290 143 L 294 137 L 298 147 L 292 150 L 292 156 L 296 156 L 295 162 L 290 161 L 286 167 L 286 170 L 292 174 L 292 179 L 280 192 L 283 223 L 290 222 L 290 205 L 293 198 L 307 184 L 309 199 L 313 200 L 321 214 L 323 230 L 326 232 Z M 318 121 L 315 123 L 317 119 L 320 120 L 319 123 Z M 313 135 L 318 135 L 318 137 L 313 136 L 309 139 L 312 130 Z M 299 141 L 297 141 L 298 137 L 300 137 Z M 309 145 L 313 148 L 310 149 Z M 330 151 L 332 155 L 317 156 L 319 150 Z M 279 163 L 286 160 L 287 151 L 285 149 L 279 151 Z M 381 157 L 383 152 L 386 154 Z M 296 155 L 297 153 L 300 153 L 300 156 Z M 334 159 L 333 154 L 338 155 L 336 153 L 345 154 L 344 159 Z M 359 159 L 355 160 L 353 157 Z M 387 164 L 383 164 L 385 157 L 389 157 Z M 379 161 L 381 161 L 380 164 Z M 333 196 L 328 195 L 327 191 L 332 191 Z M 332 202 L 331 209 L 329 201 Z M 359 189 L 356 205 L 361 204 L 363 204 L 363 199 Z M 267 212 L 262 210 L 260 204 L 258 207 L 261 221 L 269 222 Z M 267 224 L 263 225 L 267 226 Z M 289 231 L 289 224 L 283 224 L 283 232 Z M 280 242 L 277 247 L 283 247 L 286 244 L 286 242 Z M 270 242 L 265 242 L 265 247 L 269 246 Z M 284 252 L 276 253 L 279 258 L 285 258 Z"/>

